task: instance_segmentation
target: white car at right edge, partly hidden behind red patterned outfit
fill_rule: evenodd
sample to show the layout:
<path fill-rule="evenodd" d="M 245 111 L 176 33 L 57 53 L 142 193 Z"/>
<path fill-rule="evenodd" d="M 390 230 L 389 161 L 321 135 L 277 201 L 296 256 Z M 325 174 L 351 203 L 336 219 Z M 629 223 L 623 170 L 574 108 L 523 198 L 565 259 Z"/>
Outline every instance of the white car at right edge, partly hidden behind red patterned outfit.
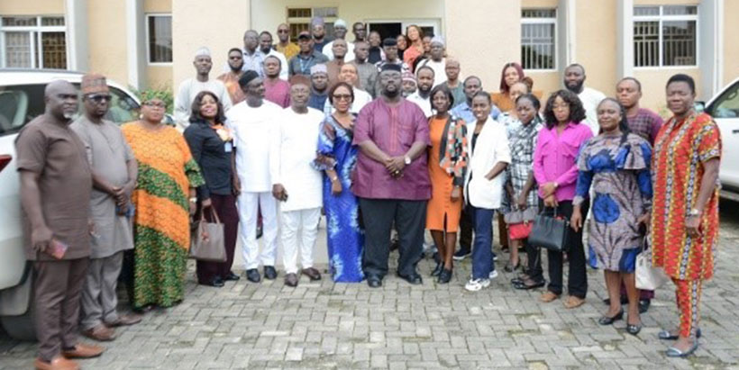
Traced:
<path fill-rule="evenodd" d="M 714 118 L 721 131 L 721 196 L 739 202 L 739 78 L 708 101 L 704 112 Z"/>

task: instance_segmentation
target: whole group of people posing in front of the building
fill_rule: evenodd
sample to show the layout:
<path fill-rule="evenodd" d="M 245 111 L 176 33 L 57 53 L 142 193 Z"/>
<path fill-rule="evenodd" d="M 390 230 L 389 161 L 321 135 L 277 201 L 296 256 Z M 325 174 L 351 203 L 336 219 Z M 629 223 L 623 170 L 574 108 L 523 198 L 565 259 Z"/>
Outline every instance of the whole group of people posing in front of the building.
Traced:
<path fill-rule="evenodd" d="M 428 231 L 437 283 L 449 283 L 454 261 L 471 256 L 464 287 L 479 291 L 497 276 L 498 214 L 506 271 L 522 268 L 518 249 L 525 250 L 515 289 L 546 285 L 540 301 L 553 302 L 565 292 L 568 263 L 563 305 L 573 309 L 585 302 L 586 266 L 603 269 L 609 309 L 598 322 L 622 320 L 628 303 L 626 331 L 634 335 L 653 296 L 635 287 L 635 259 L 650 253 L 677 286 L 680 326 L 660 333 L 677 339 L 667 355 L 698 347 L 698 302 L 713 275 L 718 232 L 721 140 L 711 117 L 693 109 L 691 77 L 668 81 L 672 117 L 662 122 L 640 107 L 634 77 L 606 97 L 586 87 L 585 68 L 573 64 L 564 88 L 542 106 L 517 63 L 504 66 L 499 91 L 488 94 L 479 77 L 461 80 L 443 40 L 426 43 L 418 27 L 382 41 L 379 51 L 379 37 L 365 41 L 361 23 L 351 44 L 345 23 L 334 31 L 328 41 L 319 20 L 297 45 L 287 24 L 277 45 L 269 32 L 248 31 L 216 80 L 210 51 L 197 50 L 196 77 L 176 95 L 183 133 L 162 123 L 166 106 L 154 93 L 142 96 L 141 119 L 119 128 L 105 120 L 105 77 L 83 78 L 84 114 L 74 122 L 74 86 L 47 86 L 46 113 L 16 141 L 37 368 L 74 368 L 68 358 L 103 352 L 78 342 L 78 325 L 105 341 L 115 327 L 141 320 L 116 313 L 119 275 L 136 311 L 181 302 L 193 220 L 224 224 L 226 261 L 197 261 L 199 284 L 240 279 L 232 271 L 237 239 L 252 283 L 277 278 L 278 245 L 287 286 L 301 275 L 320 280 L 314 248 L 322 209 L 335 282 L 381 286 L 396 233 L 397 276 L 422 284 L 417 264 Z M 547 250 L 548 285 L 541 248 L 527 242 L 542 213 L 571 228 L 563 252 Z"/>

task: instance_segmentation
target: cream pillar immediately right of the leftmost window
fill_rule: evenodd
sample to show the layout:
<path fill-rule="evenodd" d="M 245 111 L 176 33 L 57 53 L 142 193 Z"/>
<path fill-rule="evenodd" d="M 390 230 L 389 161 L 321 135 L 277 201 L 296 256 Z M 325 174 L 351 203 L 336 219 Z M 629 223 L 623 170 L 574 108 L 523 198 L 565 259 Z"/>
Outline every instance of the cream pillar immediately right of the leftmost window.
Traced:
<path fill-rule="evenodd" d="M 64 23 L 67 24 L 67 69 L 87 71 L 87 0 L 66 0 Z"/>

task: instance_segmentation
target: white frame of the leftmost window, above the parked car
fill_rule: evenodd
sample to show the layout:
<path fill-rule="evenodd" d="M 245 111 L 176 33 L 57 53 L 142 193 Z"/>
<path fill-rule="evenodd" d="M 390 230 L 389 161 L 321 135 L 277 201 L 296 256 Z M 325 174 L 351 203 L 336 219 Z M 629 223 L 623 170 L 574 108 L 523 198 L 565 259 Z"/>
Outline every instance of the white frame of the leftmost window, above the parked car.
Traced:
<path fill-rule="evenodd" d="M 35 26 L 4 26 L 3 18 L 15 18 L 15 17 L 28 17 L 36 18 Z M 42 25 L 43 18 L 63 18 L 63 26 L 45 26 Z M 44 15 L 0 15 L 0 68 L 9 68 L 5 64 L 5 33 L 6 32 L 27 32 L 31 38 L 31 66 L 23 68 L 32 69 L 43 69 L 47 68 L 43 66 L 43 41 L 41 40 L 41 34 L 45 32 L 64 32 L 64 53 L 67 57 L 67 66 L 65 70 L 69 70 L 69 32 L 67 30 L 67 17 L 65 14 L 44 14 Z M 36 37 L 34 37 L 34 34 Z M 38 63 L 36 60 L 38 59 Z"/>

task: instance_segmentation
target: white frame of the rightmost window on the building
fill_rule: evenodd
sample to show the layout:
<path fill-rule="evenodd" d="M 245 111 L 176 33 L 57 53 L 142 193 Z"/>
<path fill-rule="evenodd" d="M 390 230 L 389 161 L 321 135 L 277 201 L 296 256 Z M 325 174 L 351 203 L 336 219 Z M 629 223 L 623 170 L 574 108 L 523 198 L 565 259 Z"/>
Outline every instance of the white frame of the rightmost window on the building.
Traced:
<path fill-rule="evenodd" d="M 635 66 L 634 69 L 637 70 L 656 70 L 656 69 L 686 69 L 686 68 L 699 68 L 700 67 L 700 24 L 699 24 L 699 15 L 700 15 L 700 6 L 698 5 L 682 5 L 682 6 L 694 6 L 696 8 L 696 14 L 678 14 L 678 15 L 666 15 L 664 14 L 664 8 L 665 6 L 673 6 L 673 5 L 634 5 L 634 8 L 632 9 L 632 22 L 631 22 L 631 28 L 634 30 L 634 24 L 637 22 L 657 22 L 659 25 L 657 26 L 658 31 L 658 54 L 659 54 L 659 64 L 657 66 Z M 660 10 L 660 14 L 656 15 L 634 15 L 634 11 L 636 8 L 658 8 Z M 682 65 L 682 66 L 665 66 L 664 65 L 664 35 L 662 34 L 662 27 L 665 22 L 695 22 L 696 23 L 696 52 L 695 52 L 695 59 L 696 63 L 693 65 Z M 634 35 L 632 33 L 632 35 Z M 634 51 L 634 58 L 636 56 L 636 45 L 634 43 L 634 37 L 632 37 L 632 48 Z"/>

